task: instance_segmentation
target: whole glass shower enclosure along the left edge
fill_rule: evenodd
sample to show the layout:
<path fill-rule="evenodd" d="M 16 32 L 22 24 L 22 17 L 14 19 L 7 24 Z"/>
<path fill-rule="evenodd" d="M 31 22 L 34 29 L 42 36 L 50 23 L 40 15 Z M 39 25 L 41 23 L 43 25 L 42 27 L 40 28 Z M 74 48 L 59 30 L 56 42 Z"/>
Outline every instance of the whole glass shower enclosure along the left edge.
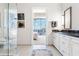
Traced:
<path fill-rule="evenodd" d="M 17 54 L 17 4 L 0 4 L 0 56 Z"/>

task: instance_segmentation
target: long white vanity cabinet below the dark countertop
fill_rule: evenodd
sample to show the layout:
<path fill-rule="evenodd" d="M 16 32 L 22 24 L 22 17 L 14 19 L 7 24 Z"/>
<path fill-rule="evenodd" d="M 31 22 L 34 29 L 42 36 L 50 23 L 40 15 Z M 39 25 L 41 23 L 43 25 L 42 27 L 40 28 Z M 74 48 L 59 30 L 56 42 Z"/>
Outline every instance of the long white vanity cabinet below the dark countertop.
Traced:
<path fill-rule="evenodd" d="M 54 33 L 53 44 L 63 56 L 79 56 L 79 38 Z"/>

